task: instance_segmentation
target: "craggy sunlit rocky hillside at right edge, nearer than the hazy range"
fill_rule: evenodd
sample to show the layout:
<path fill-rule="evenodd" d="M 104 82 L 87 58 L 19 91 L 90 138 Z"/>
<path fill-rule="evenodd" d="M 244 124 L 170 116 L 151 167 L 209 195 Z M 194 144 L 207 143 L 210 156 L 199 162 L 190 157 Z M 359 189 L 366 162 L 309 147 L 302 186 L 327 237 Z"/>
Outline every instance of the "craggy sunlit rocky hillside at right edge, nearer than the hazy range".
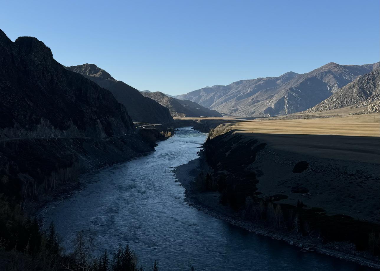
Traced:
<path fill-rule="evenodd" d="M 378 112 L 380 102 L 380 69 L 359 76 L 329 98 L 306 110 L 321 112 L 347 106 L 366 107 L 366 113 Z"/>

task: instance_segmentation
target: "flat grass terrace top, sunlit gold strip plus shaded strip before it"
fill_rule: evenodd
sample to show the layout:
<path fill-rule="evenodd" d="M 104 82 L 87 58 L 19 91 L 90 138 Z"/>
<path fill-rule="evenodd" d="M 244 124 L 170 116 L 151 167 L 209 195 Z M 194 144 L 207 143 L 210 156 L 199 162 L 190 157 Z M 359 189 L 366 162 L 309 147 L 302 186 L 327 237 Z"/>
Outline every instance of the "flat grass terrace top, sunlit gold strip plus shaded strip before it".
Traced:
<path fill-rule="evenodd" d="M 325 112 L 325 115 L 335 115 L 335 112 Z M 380 164 L 380 113 L 306 119 L 182 119 L 230 123 L 230 129 L 234 133 L 253 136 L 266 142 L 268 147 L 279 150 L 321 158 Z"/>

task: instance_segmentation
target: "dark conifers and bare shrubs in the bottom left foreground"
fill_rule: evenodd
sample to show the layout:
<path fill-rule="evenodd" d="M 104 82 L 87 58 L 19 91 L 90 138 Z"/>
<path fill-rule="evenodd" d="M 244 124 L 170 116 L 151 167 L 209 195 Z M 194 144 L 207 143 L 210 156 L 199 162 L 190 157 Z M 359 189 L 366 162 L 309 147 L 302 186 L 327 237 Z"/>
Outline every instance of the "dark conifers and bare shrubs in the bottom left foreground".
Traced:
<path fill-rule="evenodd" d="M 42 232 L 36 219 L 22 213 L 19 205 L 0 201 L 0 266 L 5 271 L 142 271 L 131 247 L 121 244 L 111 256 L 97 255 L 95 225 L 76 232 L 70 249 L 60 247 L 53 223 Z M 154 262 L 158 270 L 158 263 Z"/>

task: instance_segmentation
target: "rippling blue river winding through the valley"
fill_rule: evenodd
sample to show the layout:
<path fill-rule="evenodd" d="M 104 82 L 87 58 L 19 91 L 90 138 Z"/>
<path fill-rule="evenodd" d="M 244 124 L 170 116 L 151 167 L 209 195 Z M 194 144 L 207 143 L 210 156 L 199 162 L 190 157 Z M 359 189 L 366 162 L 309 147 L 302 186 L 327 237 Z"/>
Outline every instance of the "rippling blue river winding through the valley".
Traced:
<path fill-rule="evenodd" d="M 197 158 L 206 134 L 180 128 L 146 156 L 88 173 L 87 186 L 44 214 L 61 245 L 97 221 L 98 251 L 129 244 L 139 263 L 160 271 L 373 270 L 325 255 L 300 252 L 283 241 L 250 233 L 198 211 L 184 201 L 173 168 Z"/>

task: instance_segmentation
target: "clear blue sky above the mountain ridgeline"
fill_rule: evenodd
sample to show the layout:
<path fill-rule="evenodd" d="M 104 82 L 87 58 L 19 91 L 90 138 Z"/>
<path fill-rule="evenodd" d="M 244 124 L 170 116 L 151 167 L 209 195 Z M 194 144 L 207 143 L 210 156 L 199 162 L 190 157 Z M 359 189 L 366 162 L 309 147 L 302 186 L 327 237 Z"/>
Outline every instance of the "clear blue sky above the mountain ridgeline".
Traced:
<path fill-rule="evenodd" d="M 1 1 L 0 28 L 63 65 L 95 63 L 176 95 L 241 79 L 379 61 L 378 0 Z"/>

